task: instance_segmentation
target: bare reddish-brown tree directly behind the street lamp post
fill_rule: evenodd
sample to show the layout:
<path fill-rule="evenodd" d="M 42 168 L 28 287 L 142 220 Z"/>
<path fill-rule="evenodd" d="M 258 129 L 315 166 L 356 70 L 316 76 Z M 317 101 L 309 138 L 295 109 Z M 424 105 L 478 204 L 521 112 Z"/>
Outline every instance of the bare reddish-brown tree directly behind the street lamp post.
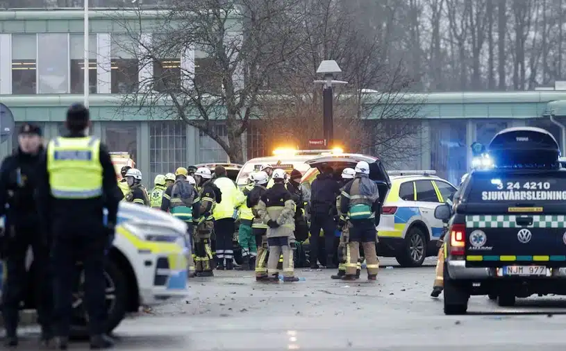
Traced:
<path fill-rule="evenodd" d="M 317 6 L 310 8 L 303 28 L 308 44 L 272 72 L 278 83 L 271 89 L 278 94 L 261 103 L 263 124 L 276 131 L 274 143 L 306 146 L 308 139 L 322 137 L 322 88 L 313 80 L 320 78 L 315 74 L 319 63 L 333 59 L 342 68 L 340 78 L 348 82 L 335 89 L 335 139 L 348 151 L 376 153 L 388 162 L 420 153 L 415 117 L 422 101 L 409 100 L 407 94 L 413 79 L 404 62 L 376 60 L 392 49 L 390 42 L 384 42 L 386 36 L 372 22 L 355 20 L 373 12 L 369 3 L 379 6 L 373 1 L 310 1 Z"/>

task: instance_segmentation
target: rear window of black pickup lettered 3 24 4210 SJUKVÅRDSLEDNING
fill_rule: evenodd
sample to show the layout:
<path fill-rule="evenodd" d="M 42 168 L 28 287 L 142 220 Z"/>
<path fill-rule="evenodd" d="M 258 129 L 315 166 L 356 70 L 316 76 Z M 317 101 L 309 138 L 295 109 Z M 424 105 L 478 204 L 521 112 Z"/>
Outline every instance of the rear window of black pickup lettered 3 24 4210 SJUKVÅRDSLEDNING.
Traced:
<path fill-rule="evenodd" d="M 467 188 L 468 203 L 556 203 L 566 200 L 566 173 L 474 173 Z"/>

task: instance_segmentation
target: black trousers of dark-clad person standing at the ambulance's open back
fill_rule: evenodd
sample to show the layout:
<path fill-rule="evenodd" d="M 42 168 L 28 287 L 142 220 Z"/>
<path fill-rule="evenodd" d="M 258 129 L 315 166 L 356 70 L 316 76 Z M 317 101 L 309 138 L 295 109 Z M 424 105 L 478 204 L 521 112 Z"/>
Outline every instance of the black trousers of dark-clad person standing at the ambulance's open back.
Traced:
<path fill-rule="evenodd" d="M 324 231 L 324 253 L 320 252 L 320 230 Z M 313 214 L 310 217 L 310 262 L 319 262 L 323 265 L 331 264 L 335 260 L 336 252 L 338 252 L 338 243 L 334 232 L 336 223 L 333 216 L 329 214 Z M 324 257 L 326 254 L 326 257 Z"/>

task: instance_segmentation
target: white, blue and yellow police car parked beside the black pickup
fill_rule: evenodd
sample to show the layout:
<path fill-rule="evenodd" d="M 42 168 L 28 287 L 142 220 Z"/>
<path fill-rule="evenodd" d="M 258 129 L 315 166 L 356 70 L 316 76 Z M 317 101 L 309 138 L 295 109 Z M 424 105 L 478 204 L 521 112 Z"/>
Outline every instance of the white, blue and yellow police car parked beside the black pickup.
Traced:
<path fill-rule="evenodd" d="M 395 257 L 403 267 L 422 266 L 438 255 L 442 221 L 434 216 L 439 203 L 451 199 L 456 187 L 435 171 L 389 171 L 391 189 L 378 225 L 379 256 Z"/>

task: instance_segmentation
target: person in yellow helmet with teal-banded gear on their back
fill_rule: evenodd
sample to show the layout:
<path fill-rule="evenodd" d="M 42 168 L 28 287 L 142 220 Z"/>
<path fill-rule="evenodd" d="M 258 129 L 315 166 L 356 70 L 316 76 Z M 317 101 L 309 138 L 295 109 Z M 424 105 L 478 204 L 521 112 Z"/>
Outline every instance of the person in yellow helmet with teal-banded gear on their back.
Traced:
<path fill-rule="evenodd" d="M 187 223 L 188 230 L 185 239 L 189 244 L 192 242 L 193 223 L 200 218 L 201 199 L 197 190 L 187 180 L 187 174 L 185 167 L 179 167 L 175 171 L 176 180 L 165 190 L 161 209 L 165 212 L 169 211 L 177 219 Z M 189 277 L 194 277 L 196 272 L 192 255 L 187 255 L 187 259 Z"/>

